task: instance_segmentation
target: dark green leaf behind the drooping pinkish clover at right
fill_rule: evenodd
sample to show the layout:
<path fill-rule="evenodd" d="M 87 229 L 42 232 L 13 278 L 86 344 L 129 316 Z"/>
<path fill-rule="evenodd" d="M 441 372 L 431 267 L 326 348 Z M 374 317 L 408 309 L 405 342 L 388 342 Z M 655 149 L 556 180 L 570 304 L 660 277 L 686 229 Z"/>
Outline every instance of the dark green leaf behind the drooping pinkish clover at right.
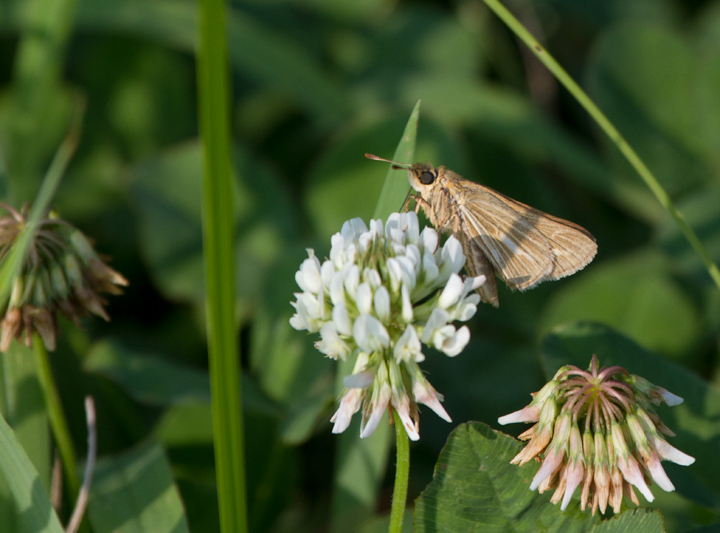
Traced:
<path fill-rule="evenodd" d="M 684 398 L 679 406 L 660 406 L 658 414 L 677 433 L 668 442 L 696 461 L 688 467 L 665 462 L 663 468 L 680 494 L 705 507 L 720 509 L 720 390 L 601 324 L 559 326 L 543 340 L 542 353 L 548 376 L 565 364 L 587 368 L 596 354 L 602 366 L 620 365 Z M 660 491 L 657 487 L 652 490 Z"/>

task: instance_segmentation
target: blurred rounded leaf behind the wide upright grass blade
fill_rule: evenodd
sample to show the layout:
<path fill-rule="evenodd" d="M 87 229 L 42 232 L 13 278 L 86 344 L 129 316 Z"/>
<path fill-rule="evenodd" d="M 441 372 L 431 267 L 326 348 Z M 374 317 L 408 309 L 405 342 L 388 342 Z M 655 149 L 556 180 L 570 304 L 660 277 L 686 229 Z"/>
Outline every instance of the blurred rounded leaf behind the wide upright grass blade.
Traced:
<path fill-rule="evenodd" d="M 177 146 L 132 172 L 140 244 L 153 277 L 171 298 L 204 296 L 200 201 L 202 164 L 196 142 Z M 236 290 L 258 296 L 265 270 L 295 233 L 291 207 L 277 178 L 238 150 Z"/>

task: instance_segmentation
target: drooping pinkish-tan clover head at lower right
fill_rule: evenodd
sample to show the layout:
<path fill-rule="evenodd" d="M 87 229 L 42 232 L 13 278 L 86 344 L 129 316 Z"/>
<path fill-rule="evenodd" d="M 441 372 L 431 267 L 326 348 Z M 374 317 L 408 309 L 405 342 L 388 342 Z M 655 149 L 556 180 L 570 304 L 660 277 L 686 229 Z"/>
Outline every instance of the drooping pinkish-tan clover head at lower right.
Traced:
<path fill-rule="evenodd" d="M 580 508 L 590 504 L 593 514 L 598 508 L 605 513 L 608 504 L 619 512 L 623 494 L 638 505 L 633 486 L 652 502 L 650 480 L 664 491 L 675 490 L 661 460 L 683 466 L 695 462 L 661 436 L 675 434 L 652 407 L 661 401 L 679 405 L 682 398 L 622 367 L 598 371 L 597 365 L 593 355 L 588 371 L 560 368 L 527 407 L 498 419 L 500 424 L 536 422 L 520 435 L 530 442 L 511 463 L 523 465 L 542 456 L 530 490 L 555 488 L 551 501 L 562 498 L 563 511 L 578 486 Z"/>

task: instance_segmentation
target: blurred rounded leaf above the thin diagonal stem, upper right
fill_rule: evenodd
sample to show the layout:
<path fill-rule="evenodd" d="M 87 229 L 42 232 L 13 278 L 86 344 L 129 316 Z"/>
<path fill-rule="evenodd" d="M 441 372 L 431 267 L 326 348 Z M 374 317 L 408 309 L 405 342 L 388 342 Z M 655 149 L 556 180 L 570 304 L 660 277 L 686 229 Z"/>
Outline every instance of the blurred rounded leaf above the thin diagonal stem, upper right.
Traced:
<path fill-rule="evenodd" d="M 660 25 L 619 25 L 596 45 L 588 71 L 600 108 L 671 195 L 711 177 L 697 127 L 697 61 L 679 34 Z M 618 171 L 637 179 L 609 150 Z"/>

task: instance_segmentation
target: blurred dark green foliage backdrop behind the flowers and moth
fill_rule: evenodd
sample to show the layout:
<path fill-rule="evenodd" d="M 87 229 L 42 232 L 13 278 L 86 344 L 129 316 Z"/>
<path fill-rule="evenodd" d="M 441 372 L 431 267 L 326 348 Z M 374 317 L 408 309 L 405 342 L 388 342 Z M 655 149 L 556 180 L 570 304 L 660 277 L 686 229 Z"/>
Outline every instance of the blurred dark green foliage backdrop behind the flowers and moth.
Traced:
<path fill-rule="evenodd" d="M 506 5 L 626 136 L 719 262 L 720 2 Z M 130 287 L 112 298 L 111 323 L 62 325 L 52 362 L 75 445 L 84 450 L 82 398 L 92 394 L 107 472 L 111 461 L 154 461 L 172 474 L 189 528 L 216 531 L 196 15 L 185 0 L 0 1 L 0 174 L 8 202 L 31 201 L 74 102 L 86 99 L 54 207 Z M 614 146 L 482 2 L 232 1 L 228 32 L 252 531 L 330 528 L 337 365 L 288 324 L 294 272 L 305 248 L 323 257 L 343 221 L 371 216 L 387 165 L 363 154 L 390 157 L 419 99 L 418 160 L 572 220 L 599 246 L 569 279 L 528 293 L 502 287 L 500 308 L 480 307 L 459 357 L 428 351 L 423 369 L 455 423 L 497 427 L 526 405 L 546 380 L 542 338 L 581 319 L 718 383 L 717 287 Z M 454 425 L 423 411 L 411 498 Z M 39 457 L 48 480 L 49 458 Z M 378 514 L 391 488 L 392 469 Z M 655 492 L 668 530 L 717 519 L 711 504 Z M 107 505 L 94 502 L 102 522 Z"/>

